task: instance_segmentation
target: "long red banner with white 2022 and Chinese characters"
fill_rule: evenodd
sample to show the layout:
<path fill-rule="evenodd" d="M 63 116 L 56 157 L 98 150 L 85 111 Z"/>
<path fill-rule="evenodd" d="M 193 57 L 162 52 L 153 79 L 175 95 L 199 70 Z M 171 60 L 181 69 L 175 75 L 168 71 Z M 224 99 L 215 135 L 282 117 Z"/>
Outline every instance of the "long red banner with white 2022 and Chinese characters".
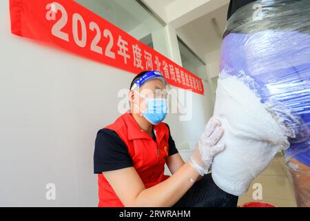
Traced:
<path fill-rule="evenodd" d="M 10 0 L 12 34 L 46 41 L 134 74 L 158 70 L 173 86 L 203 94 L 196 75 L 109 21 L 68 0 Z"/>

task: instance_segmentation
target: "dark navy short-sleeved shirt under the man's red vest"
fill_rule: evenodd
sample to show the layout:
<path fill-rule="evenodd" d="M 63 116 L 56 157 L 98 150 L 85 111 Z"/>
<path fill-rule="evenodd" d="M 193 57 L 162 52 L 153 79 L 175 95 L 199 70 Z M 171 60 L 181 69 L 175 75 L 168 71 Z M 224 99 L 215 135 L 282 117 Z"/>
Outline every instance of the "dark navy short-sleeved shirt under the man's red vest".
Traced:
<path fill-rule="evenodd" d="M 168 145 L 169 156 L 178 153 L 170 129 Z M 101 129 L 97 133 L 95 142 L 94 173 L 114 171 L 131 166 L 133 166 L 132 157 L 130 157 L 130 153 L 128 153 L 127 146 L 123 140 L 115 131 L 106 128 Z"/>

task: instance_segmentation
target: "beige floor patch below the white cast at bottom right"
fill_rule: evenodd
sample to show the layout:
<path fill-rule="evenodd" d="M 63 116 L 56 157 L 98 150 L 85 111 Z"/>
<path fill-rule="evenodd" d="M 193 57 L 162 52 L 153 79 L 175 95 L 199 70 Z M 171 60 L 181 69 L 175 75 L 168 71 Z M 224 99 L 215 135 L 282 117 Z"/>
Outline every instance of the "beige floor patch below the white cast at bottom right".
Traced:
<path fill-rule="evenodd" d="M 253 193 L 256 191 L 253 189 L 253 185 L 256 183 L 262 185 L 262 200 L 253 198 Z M 249 191 L 239 198 L 238 206 L 253 201 L 267 202 L 278 207 L 296 207 L 295 196 L 282 153 L 278 153 L 268 169 L 256 177 Z"/>

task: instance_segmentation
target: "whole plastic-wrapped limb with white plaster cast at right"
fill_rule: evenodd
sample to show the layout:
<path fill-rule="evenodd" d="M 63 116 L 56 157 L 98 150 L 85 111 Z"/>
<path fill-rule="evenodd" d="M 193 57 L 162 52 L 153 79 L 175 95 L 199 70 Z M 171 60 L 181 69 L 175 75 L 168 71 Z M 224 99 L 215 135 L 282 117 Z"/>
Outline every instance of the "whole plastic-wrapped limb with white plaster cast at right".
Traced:
<path fill-rule="evenodd" d="M 214 115 L 226 150 L 214 158 L 218 186 L 242 195 L 285 151 L 298 206 L 310 206 L 310 4 L 262 0 L 228 21 Z"/>

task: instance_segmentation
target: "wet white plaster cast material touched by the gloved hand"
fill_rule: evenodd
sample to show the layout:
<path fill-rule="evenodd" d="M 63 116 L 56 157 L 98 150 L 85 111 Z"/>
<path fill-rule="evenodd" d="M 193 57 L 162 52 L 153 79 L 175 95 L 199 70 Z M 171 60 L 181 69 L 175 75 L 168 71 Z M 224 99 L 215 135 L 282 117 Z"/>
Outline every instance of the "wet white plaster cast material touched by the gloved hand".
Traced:
<path fill-rule="evenodd" d="M 226 148 L 214 157 L 212 177 L 220 189 L 243 195 L 289 142 L 258 97 L 236 77 L 218 80 L 214 108 L 224 129 L 218 144 Z"/>

